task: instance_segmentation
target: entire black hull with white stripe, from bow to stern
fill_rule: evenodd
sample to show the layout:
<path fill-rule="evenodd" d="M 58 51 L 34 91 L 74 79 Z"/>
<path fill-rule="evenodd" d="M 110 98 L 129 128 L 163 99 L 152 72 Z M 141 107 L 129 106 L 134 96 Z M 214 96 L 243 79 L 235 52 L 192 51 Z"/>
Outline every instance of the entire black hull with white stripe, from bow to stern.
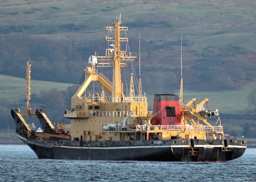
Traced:
<path fill-rule="evenodd" d="M 183 142 L 182 139 L 174 139 L 168 141 L 108 142 L 107 144 L 107 142 L 81 143 L 79 141 L 38 142 L 35 139 L 27 139 L 20 135 L 18 138 L 26 143 L 40 159 L 225 162 L 240 157 L 246 148 L 242 145 L 223 148 L 222 145 L 206 145 L 204 143 L 204 145 L 194 144 L 194 149 L 191 150 L 189 142 L 199 141 L 196 139 L 183 139 Z"/>

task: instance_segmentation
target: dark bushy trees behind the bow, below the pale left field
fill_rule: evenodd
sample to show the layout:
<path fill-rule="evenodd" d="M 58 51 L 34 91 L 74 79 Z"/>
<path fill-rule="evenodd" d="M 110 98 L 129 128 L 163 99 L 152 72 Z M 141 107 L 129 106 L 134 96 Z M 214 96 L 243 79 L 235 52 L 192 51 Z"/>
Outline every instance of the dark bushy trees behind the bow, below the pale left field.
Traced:
<path fill-rule="evenodd" d="M 70 108 L 71 96 L 78 89 L 77 85 L 69 86 L 67 90 L 62 91 L 53 88 L 49 91 L 41 90 L 39 94 L 32 94 L 30 106 L 32 110 L 35 108 L 43 109 L 53 123 L 63 122 L 64 111 Z M 11 109 L 20 108 L 26 111 L 26 99 L 19 102 L 10 102 L 4 98 L 0 99 L 0 128 L 15 129 L 16 125 L 11 116 Z M 29 118 L 30 120 L 31 118 Z M 26 118 L 27 120 L 27 118 Z M 36 119 L 37 120 L 37 119 Z M 69 121 L 66 121 L 66 123 Z M 39 126 L 38 126 L 39 127 Z"/>

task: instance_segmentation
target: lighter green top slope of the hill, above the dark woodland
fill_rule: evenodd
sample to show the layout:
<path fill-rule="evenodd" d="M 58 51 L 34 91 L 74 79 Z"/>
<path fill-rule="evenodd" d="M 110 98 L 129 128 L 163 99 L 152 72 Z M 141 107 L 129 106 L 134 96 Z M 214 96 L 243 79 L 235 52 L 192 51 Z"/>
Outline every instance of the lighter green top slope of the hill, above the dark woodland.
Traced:
<path fill-rule="evenodd" d="M 4 33 L 79 42 L 105 35 L 100 27 L 119 13 L 125 24 L 136 28 L 129 35 L 140 32 L 146 40 L 176 40 L 182 33 L 194 41 L 193 50 L 220 44 L 256 48 L 254 1 L 1 1 L 0 23 Z"/>

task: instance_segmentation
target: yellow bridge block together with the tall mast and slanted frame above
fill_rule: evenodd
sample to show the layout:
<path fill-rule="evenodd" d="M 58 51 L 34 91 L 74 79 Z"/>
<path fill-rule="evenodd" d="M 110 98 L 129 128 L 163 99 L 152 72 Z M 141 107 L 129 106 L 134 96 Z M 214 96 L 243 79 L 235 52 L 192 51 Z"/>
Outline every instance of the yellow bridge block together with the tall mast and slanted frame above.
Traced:
<path fill-rule="evenodd" d="M 105 55 L 99 56 L 98 52 L 94 50 L 94 55 L 89 57 L 88 63 L 91 66 L 86 66 L 84 70 L 85 80 L 72 96 L 72 109 L 70 111 L 65 111 L 64 117 L 71 119 L 82 119 L 90 116 L 122 117 L 129 115 L 131 112 L 133 112 L 131 117 L 146 118 L 148 116 L 148 103 L 146 94 L 142 94 L 140 72 L 138 82 L 132 63 L 132 61 L 138 59 L 138 57 L 132 56 L 129 49 L 128 37 L 126 34 L 128 27 L 120 26 L 121 16 L 120 19 L 116 19 L 113 24 L 114 26 L 106 25 L 106 30 L 108 31 L 108 36 L 106 36 L 108 47 L 105 49 Z M 113 37 L 110 37 L 111 34 L 113 34 Z M 125 50 L 122 50 L 122 42 L 125 43 Z M 131 73 L 129 94 L 128 96 L 125 96 L 124 84 L 121 79 L 121 67 L 128 67 L 128 61 L 131 62 L 133 73 Z M 103 73 L 98 72 L 96 69 L 97 67 L 112 67 L 112 80 L 103 75 Z M 135 75 L 138 82 L 138 89 L 137 84 L 135 83 L 138 94 L 135 94 L 133 75 Z M 86 93 L 87 87 L 93 81 L 98 82 L 102 86 L 102 92 L 100 91 L 101 93 L 99 94 L 87 94 L 86 96 L 83 96 Z M 105 91 L 111 96 L 107 97 Z"/>

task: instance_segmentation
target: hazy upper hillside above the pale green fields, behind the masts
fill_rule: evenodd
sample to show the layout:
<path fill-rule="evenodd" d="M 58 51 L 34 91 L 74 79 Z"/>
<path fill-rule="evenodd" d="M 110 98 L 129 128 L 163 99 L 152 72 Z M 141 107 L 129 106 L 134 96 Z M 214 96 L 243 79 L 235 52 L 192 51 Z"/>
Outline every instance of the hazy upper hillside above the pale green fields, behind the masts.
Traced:
<path fill-rule="evenodd" d="M 241 90 L 256 80 L 255 9 L 238 0 L 1 1 L 0 73 L 22 77 L 30 58 L 34 79 L 78 83 L 94 49 L 105 52 L 105 25 L 121 13 L 132 55 L 141 35 L 148 94 L 178 89 L 181 33 L 185 89 Z M 154 79 L 161 82 L 150 88 Z"/>

